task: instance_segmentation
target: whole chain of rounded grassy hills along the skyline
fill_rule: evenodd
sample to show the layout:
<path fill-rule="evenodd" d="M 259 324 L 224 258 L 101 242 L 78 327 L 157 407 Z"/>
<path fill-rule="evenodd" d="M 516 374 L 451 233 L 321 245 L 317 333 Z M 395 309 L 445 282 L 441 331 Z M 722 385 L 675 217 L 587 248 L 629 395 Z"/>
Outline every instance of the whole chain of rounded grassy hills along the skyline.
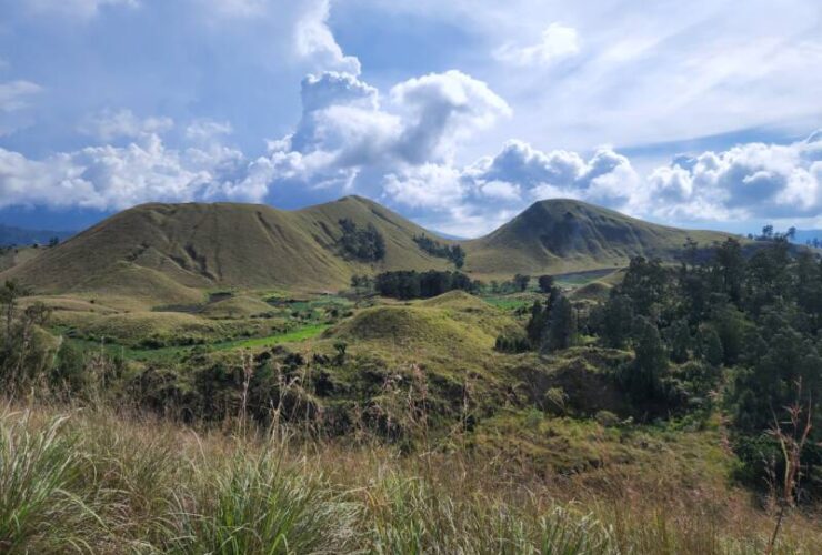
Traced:
<path fill-rule="evenodd" d="M 347 222 L 345 224 L 343 222 Z M 372 226 L 384 256 L 352 258 L 344 228 Z M 116 214 L 0 276 L 41 292 L 94 292 L 198 302 L 204 291 L 235 289 L 337 290 L 353 274 L 387 270 L 452 270 L 414 241 L 431 233 L 359 196 L 303 210 L 258 204 L 144 204 Z M 643 254 L 676 260 L 688 238 L 709 245 L 730 236 L 651 224 L 571 200 L 533 204 L 490 235 L 459 241 L 464 271 L 479 279 L 514 273 L 563 273 L 625 265 Z"/>

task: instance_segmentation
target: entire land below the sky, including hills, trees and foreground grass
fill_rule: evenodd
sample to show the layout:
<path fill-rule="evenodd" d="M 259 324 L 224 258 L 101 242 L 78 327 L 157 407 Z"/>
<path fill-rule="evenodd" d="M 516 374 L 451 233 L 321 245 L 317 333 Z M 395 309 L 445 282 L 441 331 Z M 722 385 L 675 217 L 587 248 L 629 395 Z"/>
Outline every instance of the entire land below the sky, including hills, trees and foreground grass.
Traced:
<path fill-rule="evenodd" d="M 813 251 L 570 201 L 473 242 L 130 212 L 0 275 L 2 552 L 822 545 Z"/>

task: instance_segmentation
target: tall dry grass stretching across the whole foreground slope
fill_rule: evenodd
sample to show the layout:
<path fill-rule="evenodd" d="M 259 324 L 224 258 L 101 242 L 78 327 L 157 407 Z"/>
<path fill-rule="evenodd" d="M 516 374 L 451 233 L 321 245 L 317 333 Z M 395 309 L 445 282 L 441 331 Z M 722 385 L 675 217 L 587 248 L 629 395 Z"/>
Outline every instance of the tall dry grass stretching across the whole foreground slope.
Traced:
<path fill-rule="evenodd" d="M 239 430 L 239 427 L 237 428 Z M 194 430 L 128 411 L 0 407 L 2 553 L 761 553 L 771 516 L 728 492 L 548 481 L 462 451 Z M 724 495 L 724 498 L 723 498 Z M 812 515 L 776 553 L 818 553 Z"/>

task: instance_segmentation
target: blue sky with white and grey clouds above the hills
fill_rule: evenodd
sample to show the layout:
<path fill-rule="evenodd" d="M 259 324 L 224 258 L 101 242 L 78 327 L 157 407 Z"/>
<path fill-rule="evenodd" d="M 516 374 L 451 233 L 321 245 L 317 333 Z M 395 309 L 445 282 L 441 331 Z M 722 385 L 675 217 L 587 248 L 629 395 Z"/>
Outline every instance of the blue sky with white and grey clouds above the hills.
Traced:
<path fill-rule="evenodd" d="M 822 228 L 822 3 L 0 0 L 0 223 L 347 194 Z"/>

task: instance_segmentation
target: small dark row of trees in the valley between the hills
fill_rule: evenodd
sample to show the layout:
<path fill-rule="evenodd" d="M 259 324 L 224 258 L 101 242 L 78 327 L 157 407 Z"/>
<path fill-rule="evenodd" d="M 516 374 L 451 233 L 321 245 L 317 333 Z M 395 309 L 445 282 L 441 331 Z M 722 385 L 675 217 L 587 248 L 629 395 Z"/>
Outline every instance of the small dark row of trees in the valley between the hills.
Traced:
<path fill-rule="evenodd" d="M 480 287 L 479 282 L 461 272 L 437 270 L 383 272 L 374 279 L 374 290 L 393 299 L 429 299 L 453 290 L 475 293 Z"/>

